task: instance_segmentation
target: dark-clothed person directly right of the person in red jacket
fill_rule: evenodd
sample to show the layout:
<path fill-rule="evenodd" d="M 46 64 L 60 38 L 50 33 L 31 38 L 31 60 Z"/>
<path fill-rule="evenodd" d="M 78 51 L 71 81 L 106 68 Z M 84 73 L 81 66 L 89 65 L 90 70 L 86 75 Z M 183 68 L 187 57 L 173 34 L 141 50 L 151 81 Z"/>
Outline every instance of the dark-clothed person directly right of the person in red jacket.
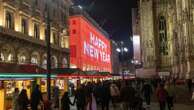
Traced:
<path fill-rule="evenodd" d="M 173 110 L 174 105 L 174 99 L 175 99 L 175 87 L 171 83 L 167 83 L 166 91 L 168 93 L 167 96 L 167 105 L 168 110 Z"/>

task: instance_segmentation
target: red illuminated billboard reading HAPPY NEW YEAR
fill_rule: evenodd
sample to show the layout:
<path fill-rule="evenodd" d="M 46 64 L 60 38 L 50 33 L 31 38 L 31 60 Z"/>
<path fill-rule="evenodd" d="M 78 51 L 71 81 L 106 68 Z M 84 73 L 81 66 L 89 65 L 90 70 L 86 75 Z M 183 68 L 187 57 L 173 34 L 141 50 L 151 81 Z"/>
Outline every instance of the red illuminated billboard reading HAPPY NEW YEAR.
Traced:
<path fill-rule="evenodd" d="M 112 72 L 109 39 L 83 16 L 71 16 L 69 24 L 71 67 Z"/>

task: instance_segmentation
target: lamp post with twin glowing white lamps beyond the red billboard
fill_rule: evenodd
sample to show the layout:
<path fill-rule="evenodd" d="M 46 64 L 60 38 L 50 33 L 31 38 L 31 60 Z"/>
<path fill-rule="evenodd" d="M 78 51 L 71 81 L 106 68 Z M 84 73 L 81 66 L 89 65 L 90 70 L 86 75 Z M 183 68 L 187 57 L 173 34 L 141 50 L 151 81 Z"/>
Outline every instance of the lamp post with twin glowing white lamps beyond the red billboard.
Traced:
<path fill-rule="evenodd" d="M 121 66 L 122 66 L 122 79 L 125 79 L 125 75 L 124 75 L 124 69 L 123 69 L 123 62 L 124 62 L 124 53 L 128 52 L 128 49 L 126 47 L 124 47 L 124 42 L 121 41 L 118 43 L 118 48 L 116 49 L 117 52 L 121 53 Z"/>

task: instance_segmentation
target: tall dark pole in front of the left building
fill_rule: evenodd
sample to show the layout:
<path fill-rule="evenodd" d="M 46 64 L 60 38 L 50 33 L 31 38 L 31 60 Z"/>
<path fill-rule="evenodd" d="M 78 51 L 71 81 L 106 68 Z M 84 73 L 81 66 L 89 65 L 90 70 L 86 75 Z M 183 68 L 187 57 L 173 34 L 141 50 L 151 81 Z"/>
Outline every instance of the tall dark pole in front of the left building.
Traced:
<path fill-rule="evenodd" d="M 50 47 L 50 33 L 51 33 L 51 20 L 50 20 L 50 0 L 46 2 L 46 50 L 47 50 L 47 92 L 48 99 L 51 99 L 51 47 Z"/>

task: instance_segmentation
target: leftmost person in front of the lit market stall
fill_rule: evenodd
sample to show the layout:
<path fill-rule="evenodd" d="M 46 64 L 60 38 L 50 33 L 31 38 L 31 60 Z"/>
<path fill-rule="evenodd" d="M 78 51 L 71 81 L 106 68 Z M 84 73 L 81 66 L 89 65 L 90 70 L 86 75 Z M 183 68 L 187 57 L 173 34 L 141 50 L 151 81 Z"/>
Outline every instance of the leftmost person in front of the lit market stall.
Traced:
<path fill-rule="evenodd" d="M 18 109 L 18 97 L 19 97 L 19 89 L 15 88 L 14 92 L 13 92 L 13 110 L 19 110 Z"/>

